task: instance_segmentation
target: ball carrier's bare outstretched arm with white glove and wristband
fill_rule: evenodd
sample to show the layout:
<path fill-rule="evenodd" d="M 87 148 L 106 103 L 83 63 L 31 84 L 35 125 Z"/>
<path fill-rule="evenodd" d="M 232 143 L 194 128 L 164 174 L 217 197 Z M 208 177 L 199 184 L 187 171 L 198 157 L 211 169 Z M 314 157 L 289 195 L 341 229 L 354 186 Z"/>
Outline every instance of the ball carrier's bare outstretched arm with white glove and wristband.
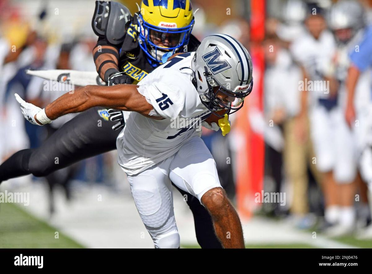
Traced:
<path fill-rule="evenodd" d="M 92 107 L 101 106 L 125 111 L 136 111 L 149 116 L 153 106 L 138 90 L 137 85 L 95 86 L 88 85 L 68 92 L 57 98 L 44 109 L 25 102 L 16 94 L 23 116 L 35 125 L 51 123 L 65 114 L 78 113 Z M 152 117 L 157 119 L 157 117 Z"/>

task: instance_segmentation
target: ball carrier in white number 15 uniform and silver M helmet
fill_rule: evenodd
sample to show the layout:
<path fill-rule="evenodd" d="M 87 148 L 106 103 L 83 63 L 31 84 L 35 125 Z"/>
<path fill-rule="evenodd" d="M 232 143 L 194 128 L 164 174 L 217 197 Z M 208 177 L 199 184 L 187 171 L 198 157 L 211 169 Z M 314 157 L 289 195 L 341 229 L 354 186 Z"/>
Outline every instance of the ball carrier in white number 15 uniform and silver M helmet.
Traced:
<path fill-rule="evenodd" d="M 173 57 L 138 85 L 85 86 L 42 110 L 16 98 L 25 118 L 36 125 L 94 106 L 131 111 L 117 139 L 118 162 L 155 247 L 180 246 L 172 181 L 208 209 L 225 248 L 244 248 L 238 214 L 193 121 L 205 120 L 212 112 L 226 117 L 239 110 L 252 86 L 246 48 L 228 35 L 215 34 L 206 37 L 196 52 Z M 175 126 L 175 119 L 189 126 Z"/>

